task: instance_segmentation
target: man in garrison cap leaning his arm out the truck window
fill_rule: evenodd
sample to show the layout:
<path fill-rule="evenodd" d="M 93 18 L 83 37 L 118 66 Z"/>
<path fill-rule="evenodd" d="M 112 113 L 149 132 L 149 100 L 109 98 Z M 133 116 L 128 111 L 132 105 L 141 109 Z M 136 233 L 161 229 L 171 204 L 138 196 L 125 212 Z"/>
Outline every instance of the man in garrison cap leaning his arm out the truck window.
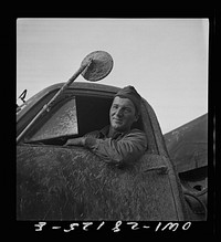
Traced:
<path fill-rule="evenodd" d="M 104 161 L 115 165 L 134 162 L 147 148 L 144 131 L 131 129 L 140 115 L 141 97 L 134 86 L 122 88 L 109 109 L 109 126 L 92 131 L 84 137 L 69 139 L 65 146 L 84 146 Z"/>

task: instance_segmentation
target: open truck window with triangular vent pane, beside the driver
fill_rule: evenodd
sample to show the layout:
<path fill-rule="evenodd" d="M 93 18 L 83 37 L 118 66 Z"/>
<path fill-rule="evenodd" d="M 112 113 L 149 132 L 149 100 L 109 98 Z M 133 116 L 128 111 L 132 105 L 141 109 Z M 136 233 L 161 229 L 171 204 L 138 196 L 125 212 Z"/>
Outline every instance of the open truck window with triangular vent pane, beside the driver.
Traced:
<path fill-rule="evenodd" d="M 29 131 L 25 143 L 63 145 L 109 124 L 113 97 L 75 95 L 59 101 Z M 141 119 L 133 126 L 143 128 Z"/>

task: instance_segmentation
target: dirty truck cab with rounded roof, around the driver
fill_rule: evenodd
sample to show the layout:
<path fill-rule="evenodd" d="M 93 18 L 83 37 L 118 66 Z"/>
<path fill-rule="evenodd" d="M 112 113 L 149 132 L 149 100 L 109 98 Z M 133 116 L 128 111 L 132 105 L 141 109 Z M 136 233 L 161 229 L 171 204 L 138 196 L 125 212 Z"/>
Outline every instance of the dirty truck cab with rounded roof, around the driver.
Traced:
<path fill-rule="evenodd" d="M 17 113 L 17 136 L 63 83 L 42 90 Z M 148 148 L 116 167 L 86 148 L 64 146 L 108 125 L 116 86 L 75 82 L 17 144 L 18 220 L 187 221 L 194 218 L 169 158 L 157 116 L 143 98 L 134 127 Z"/>

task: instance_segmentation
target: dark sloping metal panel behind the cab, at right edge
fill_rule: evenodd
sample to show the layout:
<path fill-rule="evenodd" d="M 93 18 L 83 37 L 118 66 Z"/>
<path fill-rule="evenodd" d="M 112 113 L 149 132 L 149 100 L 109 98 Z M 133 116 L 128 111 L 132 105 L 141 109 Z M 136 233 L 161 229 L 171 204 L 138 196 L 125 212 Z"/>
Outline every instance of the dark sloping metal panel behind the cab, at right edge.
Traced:
<path fill-rule="evenodd" d="M 208 166 L 208 114 L 165 134 L 165 140 L 178 172 Z"/>

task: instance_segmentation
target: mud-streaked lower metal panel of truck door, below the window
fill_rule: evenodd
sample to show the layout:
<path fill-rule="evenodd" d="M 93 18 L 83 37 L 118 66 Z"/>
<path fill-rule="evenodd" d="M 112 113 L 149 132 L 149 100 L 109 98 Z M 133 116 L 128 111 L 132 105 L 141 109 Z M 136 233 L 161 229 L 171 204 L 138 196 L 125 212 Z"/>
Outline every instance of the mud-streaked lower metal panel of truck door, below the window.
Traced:
<path fill-rule="evenodd" d="M 147 155 L 117 168 L 84 148 L 18 146 L 18 220 L 179 220 L 167 172 L 151 169 L 162 165 Z"/>

